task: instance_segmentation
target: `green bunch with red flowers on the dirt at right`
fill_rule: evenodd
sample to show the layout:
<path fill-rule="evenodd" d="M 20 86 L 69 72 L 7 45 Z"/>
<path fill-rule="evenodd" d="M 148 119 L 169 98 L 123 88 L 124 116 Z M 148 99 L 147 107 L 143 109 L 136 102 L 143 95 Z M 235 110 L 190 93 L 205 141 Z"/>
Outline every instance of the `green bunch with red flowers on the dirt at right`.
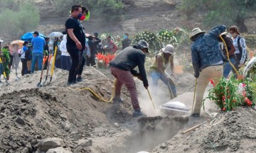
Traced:
<path fill-rule="evenodd" d="M 213 88 L 206 98 L 214 101 L 222 111 L 234 111 L 238 106 L 255 106 L 251 97 L 252 87 L 248 82 L 239 84 L 238 79 L 231 76 L 230 79 L 221 78 L 219 84 L 210 79 L 210 84 L 213 84 Z M 206 98 L 203 100 L 203 109 Z"/>

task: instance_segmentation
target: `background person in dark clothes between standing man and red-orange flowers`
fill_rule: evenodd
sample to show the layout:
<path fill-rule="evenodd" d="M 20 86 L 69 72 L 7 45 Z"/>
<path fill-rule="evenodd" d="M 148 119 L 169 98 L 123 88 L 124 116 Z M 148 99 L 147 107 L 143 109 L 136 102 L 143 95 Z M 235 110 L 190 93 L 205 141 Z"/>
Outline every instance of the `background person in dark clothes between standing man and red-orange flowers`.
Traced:
<path fill-rule="evenodd" d="M 97 45 L 100 43 L 100 39 L 95 37 L 95 36 L 89 36 L 88 37 L 88 45 L 90 46 L 90 51 L 91 51 L 91 56 L 90 57 L 87 57 L 87 60 L 86 60 L 86 65 L 87 67 L 90 67 L 90 64 L 91 66 L 95 65 L 95 55 L 97 54 Z"/>

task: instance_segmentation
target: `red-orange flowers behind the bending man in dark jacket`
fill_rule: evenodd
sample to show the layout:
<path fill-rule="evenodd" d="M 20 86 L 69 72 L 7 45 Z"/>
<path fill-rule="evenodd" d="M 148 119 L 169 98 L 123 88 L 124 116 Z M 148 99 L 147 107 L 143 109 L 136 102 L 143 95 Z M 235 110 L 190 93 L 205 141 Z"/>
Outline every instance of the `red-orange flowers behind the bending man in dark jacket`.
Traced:
<path fill-rule="evenodd" d="M 98 53 L 97 55 L 95 55 L 95 57 L 97 57 L 97 67 L 102 69 L 102 68 L 107 68 L 110 65 L 110 62 L 114 59 L 114 55 L 104 55 L 101 53 Z"/>

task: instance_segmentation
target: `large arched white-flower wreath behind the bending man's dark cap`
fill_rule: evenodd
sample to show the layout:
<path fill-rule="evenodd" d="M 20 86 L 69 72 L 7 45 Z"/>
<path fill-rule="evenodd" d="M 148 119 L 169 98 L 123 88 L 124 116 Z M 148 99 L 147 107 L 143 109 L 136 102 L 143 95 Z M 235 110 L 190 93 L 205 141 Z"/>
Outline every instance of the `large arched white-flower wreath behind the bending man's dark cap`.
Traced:
<path fill-rule="evenodd" d="M 163 47 L 161 40 L 159 40 L 159 38 L 150 31 L 144 31 L 135 35 L 133 44 L 139 42 L 139 40 L 146 40 L 146 42 L 149 43 L 149 50 L 151 52 L 158 52 Z"/>

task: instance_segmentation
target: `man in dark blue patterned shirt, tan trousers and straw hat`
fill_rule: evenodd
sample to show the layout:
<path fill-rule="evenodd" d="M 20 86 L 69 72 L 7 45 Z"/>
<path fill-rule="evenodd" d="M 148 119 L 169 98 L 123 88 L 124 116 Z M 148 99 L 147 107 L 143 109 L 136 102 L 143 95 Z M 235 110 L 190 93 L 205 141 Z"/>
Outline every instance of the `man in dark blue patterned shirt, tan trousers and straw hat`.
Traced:
<path fill-rule="evenodd" d="M 225 31 L 225 26 L 215 26 L 209 33 L 200 28 L 194 28 L 191 33 L 192 64 L 194 77 L 198 79 L 196 103 L 192 117 L 199 117 L 203 101 L 203 94 L 210 79 L 218 84 L 223 76 L 223 52 L 220 50 L 218 36 Z"/>

